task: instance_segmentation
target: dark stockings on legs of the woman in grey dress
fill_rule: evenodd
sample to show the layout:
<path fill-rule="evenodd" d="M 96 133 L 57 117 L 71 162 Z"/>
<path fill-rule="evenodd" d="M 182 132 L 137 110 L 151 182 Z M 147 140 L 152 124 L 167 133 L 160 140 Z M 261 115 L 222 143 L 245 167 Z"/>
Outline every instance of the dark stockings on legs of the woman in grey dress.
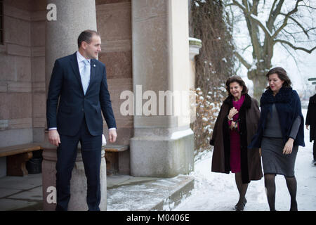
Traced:
<path fill-rule="evenodd" d="M 291 211 L 297 211 L 296 203 L 296 178 L 295 176 L 284 176 L 287 181 L 287 188 L 291 195 Z M 265 191 L 267 192 L 270 211 L 275 211 L 275 174 L 265 174 Z"/>

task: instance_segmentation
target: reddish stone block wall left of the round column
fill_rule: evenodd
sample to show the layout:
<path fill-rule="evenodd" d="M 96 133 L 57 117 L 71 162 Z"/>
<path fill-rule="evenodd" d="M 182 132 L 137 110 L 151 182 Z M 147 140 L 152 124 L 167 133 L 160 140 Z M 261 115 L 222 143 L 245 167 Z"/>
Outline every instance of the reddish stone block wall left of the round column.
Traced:
<path fill-rule="evenodd" d="M 0 45 L 0 147 L 40 141 L 45 126 L 46 2 L 4 1 Z M 4 176 L 5 158 L 0 158 Z"/>

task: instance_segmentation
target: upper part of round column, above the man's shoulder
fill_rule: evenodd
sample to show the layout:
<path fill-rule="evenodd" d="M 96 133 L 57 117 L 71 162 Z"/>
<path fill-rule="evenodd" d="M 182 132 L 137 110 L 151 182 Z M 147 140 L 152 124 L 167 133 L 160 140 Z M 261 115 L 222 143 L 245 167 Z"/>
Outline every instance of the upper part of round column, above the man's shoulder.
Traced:
<path fill-rule="evenodd" d="M 45 74 L 46 93 L 53 65 L 57 58 L 78 49 L 77 38 L 83 30 L 96 30 L 95 0 L 46 0 L 55 4 L 56 20 L 46 20 Z"/>

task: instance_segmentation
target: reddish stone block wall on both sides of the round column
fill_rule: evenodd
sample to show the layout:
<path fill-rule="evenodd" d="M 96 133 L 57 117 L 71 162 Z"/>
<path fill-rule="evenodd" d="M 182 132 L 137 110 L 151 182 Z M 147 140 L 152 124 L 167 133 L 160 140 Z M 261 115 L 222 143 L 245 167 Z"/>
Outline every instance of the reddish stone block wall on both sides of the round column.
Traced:
<path fill-rule="evenodd" d="M 96 0 L 96 15 L 102 37 L 99 60 L 107 65 L 117 119 L 117 144 L 128 145 L 133 135 L 133 117 L 121 116 L 119 107 L 124 100 L 119 96 L 121 91 L 132 90 L 131 1 Z M 4 45 L 0 45 L 0 147 L 44 141 L 45 23 L 46 1 L 4 1 Z M 104 130 L 107 133 L 106 124 Z M 129 161 L 129 155 L 125 158 Z M 0 176 L 6 173 L 5 159 L 0 158 Z M 129 162 L 124 165 L 129 167 Z M 129 171 L 127 167 L 122 169 Z"/>

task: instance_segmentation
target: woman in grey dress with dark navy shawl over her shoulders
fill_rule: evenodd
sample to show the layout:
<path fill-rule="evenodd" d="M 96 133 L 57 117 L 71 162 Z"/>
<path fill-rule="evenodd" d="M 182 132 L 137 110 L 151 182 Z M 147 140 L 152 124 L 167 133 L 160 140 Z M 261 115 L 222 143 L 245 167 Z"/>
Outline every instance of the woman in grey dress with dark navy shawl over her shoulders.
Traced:
<path fill-rule="evenodd" d="M 261 148 L 270 210 L 275 211 L 275 176 L 281 174 L 291 195 L 290 210 L 297 211 L 294 166 L 298 146 L 305 146 L 301 101 L 283 68 L 266 76 L 269 86 L 261 96 L 261 117 L 249 148 Z"/>

